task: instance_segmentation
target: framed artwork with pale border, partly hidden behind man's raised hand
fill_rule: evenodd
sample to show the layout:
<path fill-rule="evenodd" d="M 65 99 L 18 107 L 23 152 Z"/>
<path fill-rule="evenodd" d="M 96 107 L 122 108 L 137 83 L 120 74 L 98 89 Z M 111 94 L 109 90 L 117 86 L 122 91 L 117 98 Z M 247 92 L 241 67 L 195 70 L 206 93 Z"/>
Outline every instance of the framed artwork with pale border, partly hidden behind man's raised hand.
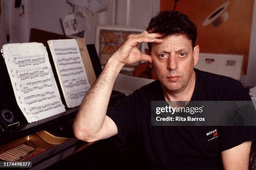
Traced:
<path fill-rule="evenodd" d="M 100 64 L 105 65 L 111 55 L 118 49 L 118 47 L 126 40 L 130 34 L 140 34 L 143 29 L 117 26 L 117 25 L 97 25 L 95 46 L 100 58 Z M 138 49 L 144 53 L 147 47 L 146 43 L 140 43 Z M 125 67 L 136 67 L 139 62 L 132 65 L 125 65 Z M 131 69 L 129 69 L 131 70 Z M 133 69 L 132 69 L 133 70 Z"/>

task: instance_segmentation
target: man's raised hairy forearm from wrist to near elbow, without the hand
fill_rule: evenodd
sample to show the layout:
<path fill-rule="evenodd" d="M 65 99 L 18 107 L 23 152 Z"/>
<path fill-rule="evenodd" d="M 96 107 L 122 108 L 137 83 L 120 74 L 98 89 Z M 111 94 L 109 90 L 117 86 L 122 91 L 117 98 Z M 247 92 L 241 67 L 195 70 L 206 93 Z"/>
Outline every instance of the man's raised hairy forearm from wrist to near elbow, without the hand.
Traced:
<path fill-rule="evenodd" d="M 91 87 L 79 108 L 74 121 L 74 132 L 77 130 L 84 134 L 99 132 L 105 120 L 115 80 L 122 67 L 123 64 L 114 57 L 108 60 L 100 77 Z"/>

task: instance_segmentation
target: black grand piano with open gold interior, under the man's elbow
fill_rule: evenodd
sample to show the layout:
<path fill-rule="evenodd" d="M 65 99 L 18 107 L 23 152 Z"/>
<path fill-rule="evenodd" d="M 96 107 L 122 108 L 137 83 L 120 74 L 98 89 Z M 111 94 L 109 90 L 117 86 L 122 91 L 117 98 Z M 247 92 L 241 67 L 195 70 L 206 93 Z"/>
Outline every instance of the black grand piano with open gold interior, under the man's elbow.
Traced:
<path fill-rule="evenodd" d="M 44 34 L 44 31 L 36 29 L 31 32 L 32 35 Z M 49 33 L 47 35 L 49 37 Z M 54 36 L 51 36 L 51 39 L 63 38 Z M 35 36 L 30 41 L 43 42 L 47 47 L 46 40 L 38 41 Z M 95 46 L 87 45 L 87 49 L 95 75 L 98 77 L 101 66 Z M 53 63 L 51 65 L 53 67 Z M 53 71 L 55 79 L 58 80 L 54 68 Z M 28 123 L 15 101 L 2 55 L 0 56 L 0 76 L 2 80 L 0 85 L 0 161 L 32 161 L 31 169 L 36 170 L 78 167 L 124 169 L 124 166 L 126 168 L 131 166 L 127 155 L 123 154 L 126 153 L 127 147 L 115 145 L 114 137 L 93 143 L 86 143 L 74 137 L 72 124 L 79 107 L 66 108 L 66 112 Z M 59 87 L 59 82 L 56 82 Z M 109 107 L 124 96 L 120 92 L 113 91 Z"/>

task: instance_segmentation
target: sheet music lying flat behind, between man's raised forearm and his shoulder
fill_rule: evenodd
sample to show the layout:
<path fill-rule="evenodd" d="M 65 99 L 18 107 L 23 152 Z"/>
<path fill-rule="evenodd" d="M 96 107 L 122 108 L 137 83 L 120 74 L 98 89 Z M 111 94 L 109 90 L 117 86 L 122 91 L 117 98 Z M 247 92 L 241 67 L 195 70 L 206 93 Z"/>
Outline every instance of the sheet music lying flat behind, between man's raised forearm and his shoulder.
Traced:
<path fill-rule="evenodd" d="M 135 90 L 141 88 L 144 85 L 147 85 L 154 80 L 140 77 L 133 77 L 129 75 L 119 74 L 113 90 L 123 92 L 125 95 L 132 94 Z"/>

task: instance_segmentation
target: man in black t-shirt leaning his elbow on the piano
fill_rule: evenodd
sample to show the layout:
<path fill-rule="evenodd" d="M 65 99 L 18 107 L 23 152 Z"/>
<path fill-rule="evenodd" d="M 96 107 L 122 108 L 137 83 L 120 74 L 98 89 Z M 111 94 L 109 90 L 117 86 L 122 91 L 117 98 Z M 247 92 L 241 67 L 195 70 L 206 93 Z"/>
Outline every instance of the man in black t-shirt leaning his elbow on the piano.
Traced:
<path fill-rule="evenodd" d="M 84 98 L 74 121 L 75 136 L 87 142 L 117 135 L 121 143 L 137 134 L 154 169 L 247 170 L 250 127 L 151 126 L 151 101 L 250 100 L 240 82 L 194 69 L 199 57 L 197 28 L 179 12 L 163 11 L 140 35 L 130 35 L 110 57 Z M 136 47 L 147 42 L 142 54 Z M 158 80 L 107 110 L 114 82 L 125 64 L 140 60 Z M 209 140 L 207 133 L 218 132 Z"/>

